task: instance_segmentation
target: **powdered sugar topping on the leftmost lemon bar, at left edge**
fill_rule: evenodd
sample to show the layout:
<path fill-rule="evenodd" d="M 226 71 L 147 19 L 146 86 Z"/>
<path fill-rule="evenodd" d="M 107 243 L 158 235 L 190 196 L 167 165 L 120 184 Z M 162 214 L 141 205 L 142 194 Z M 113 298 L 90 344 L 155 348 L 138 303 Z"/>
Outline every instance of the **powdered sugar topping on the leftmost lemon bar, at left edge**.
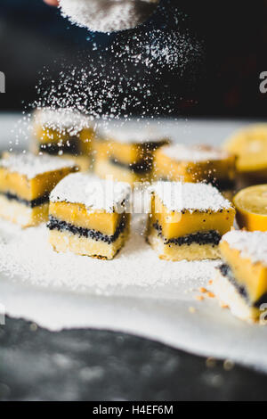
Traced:
<path fill-rule="evenodd" d="M 33 179 L 43 173 L 60 170 L 61 168 L 75 168 L 76 164 L 72 160 L 47 155 L 35 156 L 28 152 L 9 154 L 8 157 L 0 160 L 0 167 L 7 168 L 14 173 L 20 173 L 28 179 Z"/>

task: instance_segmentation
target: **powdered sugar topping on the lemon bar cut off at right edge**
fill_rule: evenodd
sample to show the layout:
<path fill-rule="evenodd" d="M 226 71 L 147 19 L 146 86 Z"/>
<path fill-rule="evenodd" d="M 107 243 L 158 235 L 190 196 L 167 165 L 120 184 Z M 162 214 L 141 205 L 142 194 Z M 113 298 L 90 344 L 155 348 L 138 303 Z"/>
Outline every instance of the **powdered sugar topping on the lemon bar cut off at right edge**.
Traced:
<path fill-rule="evenodd" d="M 267 232 L 233 230 L 224 234 L 222 240 L 228 242 L 231 249 L 240 251 L 242 258 L 267 267 Z"/>

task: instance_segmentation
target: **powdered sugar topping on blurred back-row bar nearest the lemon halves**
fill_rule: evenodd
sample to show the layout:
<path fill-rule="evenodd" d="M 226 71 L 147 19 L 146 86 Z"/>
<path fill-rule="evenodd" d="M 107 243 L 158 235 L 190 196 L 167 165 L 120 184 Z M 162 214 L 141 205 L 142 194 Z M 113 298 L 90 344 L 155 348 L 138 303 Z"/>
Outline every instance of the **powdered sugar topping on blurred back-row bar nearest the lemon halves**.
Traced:
<path fill-rule="evenodd" d="M 229 154 L 220 149 L 203 145 L 174 144 L 161 149 L 170 159 L 177 161 L 211 161 L 227 159 Z"/>

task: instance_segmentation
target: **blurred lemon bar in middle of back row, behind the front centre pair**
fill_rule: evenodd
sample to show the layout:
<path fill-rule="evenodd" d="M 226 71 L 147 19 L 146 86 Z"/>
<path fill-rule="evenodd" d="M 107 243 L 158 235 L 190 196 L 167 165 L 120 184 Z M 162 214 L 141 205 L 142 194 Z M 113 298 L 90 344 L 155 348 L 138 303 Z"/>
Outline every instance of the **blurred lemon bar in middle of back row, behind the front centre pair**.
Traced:
<path fill-rule="evenodd" d="M 149 182 L 154 153 L 169 141 L 148 127 L 131 122 L 122 127 L 99 129 L 95 142 L 94 171 L 99 177 L 134 183 Z"/>

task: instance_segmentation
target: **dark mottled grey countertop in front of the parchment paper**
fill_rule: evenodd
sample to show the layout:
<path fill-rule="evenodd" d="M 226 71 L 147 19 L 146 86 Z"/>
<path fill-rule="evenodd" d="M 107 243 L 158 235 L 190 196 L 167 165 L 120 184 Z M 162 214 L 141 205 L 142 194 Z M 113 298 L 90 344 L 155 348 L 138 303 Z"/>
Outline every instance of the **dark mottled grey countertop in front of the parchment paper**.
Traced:
<path fill-rule="evenodd" d="M 266 400 L 267 375 L 97 330 L 0 326 L 0 400 Z M 207 364 L 209 366 L 207 366 Z"/>

